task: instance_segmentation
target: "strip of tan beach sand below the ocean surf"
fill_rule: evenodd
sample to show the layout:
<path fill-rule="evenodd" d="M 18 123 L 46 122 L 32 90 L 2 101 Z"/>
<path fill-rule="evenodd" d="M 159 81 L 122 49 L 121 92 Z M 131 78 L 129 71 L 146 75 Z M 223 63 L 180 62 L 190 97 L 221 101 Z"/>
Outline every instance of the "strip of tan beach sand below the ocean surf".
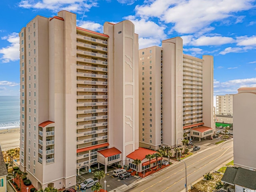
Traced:
<path fill-rule="evenodd" d="M 0 145 L 2 151 L 20 147 L 20 128 L 0 130 Z"/>

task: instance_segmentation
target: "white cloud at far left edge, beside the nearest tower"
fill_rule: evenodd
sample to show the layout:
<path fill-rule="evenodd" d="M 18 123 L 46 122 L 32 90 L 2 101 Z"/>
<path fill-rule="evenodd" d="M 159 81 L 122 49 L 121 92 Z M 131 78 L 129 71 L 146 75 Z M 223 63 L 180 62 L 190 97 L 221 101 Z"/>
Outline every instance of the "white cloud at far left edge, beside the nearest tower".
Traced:
<path fill-rule="evenodd" d="M 10 45 L 0 48 L 0 60 L 2 63 L 16 61 L 20 59 L 20 38 L 18 33 L 12 33 L 8 36 L 2 37 L 2 40 L 7 40 Z"/>

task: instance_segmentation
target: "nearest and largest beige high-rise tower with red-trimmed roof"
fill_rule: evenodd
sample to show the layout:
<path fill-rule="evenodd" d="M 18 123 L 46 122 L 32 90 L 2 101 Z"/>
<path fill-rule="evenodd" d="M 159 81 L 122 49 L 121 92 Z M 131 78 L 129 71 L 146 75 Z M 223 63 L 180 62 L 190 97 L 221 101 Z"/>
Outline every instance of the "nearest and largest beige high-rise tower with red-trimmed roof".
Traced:
<path fill-rule="evenodd" d="M 36 16 L 20 31 L 20 168 L 37 189 L 68 188 L 92 164 L 125 164 L 138 149 L 138 35 L 76 14 Z"/>

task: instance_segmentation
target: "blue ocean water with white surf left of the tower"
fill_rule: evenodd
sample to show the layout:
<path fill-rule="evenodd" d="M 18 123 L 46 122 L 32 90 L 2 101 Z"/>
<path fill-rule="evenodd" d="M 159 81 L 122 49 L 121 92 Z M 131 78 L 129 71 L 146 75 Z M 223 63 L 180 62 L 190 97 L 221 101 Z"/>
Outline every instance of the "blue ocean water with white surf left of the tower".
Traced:
<path fill-rule="evenodd" d="M 20 126 L 20 96 L 0 96 L 0 129 Z"/>

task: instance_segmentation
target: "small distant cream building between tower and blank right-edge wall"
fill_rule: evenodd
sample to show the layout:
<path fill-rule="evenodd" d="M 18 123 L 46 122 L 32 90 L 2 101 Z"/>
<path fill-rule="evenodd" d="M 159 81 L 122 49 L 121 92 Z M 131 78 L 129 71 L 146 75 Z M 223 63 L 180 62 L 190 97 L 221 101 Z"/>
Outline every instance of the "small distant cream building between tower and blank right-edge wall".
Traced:
<path fill-rule="evenodd" d="M 216 95 L 216 115 L 233 115 L 233 94 Z"/>

